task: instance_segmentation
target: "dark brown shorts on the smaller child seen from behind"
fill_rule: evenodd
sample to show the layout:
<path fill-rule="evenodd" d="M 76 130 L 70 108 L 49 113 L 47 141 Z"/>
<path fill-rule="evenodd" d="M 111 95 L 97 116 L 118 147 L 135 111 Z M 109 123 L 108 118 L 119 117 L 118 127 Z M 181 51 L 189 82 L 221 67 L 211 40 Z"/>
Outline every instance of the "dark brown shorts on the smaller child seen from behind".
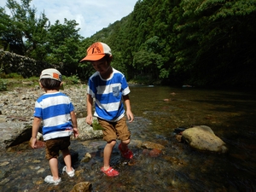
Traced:
<path fill-rule="evenodd" d="M 70 137 L 59 137 L 49 139 L 45 142 L 45 158 L 50 160 L 52 158 L 58 158 L 59 151 L 67 149 L 70 145 Z"/>

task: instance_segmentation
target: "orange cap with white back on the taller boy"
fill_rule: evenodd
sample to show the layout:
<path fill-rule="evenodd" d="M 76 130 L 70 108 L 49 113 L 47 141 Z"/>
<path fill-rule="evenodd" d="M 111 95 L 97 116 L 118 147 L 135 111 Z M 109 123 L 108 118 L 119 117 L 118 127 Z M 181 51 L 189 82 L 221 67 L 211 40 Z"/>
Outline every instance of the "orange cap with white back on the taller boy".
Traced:
<path fill-rule="evenodd" d="M 102 59 L 106 54 L 112 55 L 108 44 L 96 42 L 90 45 L 90 47 L 87 49 L 87 55 L 81 61 L 98 61 Z"/>

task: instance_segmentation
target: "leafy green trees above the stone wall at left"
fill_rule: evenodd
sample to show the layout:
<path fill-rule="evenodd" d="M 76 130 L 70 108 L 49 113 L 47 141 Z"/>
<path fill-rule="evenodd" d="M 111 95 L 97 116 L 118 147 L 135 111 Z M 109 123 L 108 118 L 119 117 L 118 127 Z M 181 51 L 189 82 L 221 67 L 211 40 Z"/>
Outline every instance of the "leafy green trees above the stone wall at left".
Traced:
<path fill-rule="evenodd" d="M 30 6 L 32 0 L 7 0 L 6 7 L 10 15 L 0 9 L 0 35 L 3 49 L 19 55 L 25 55 L 38 61 L 46 61 L 61 67 L 61 72 L 73 75 L 77 71 L 77 51 L 83 39 L 79 35 L 78 23 L 64 18 L 50 25 L 49 19 L 41 13 L 37 18 L 37 9 Z"/>

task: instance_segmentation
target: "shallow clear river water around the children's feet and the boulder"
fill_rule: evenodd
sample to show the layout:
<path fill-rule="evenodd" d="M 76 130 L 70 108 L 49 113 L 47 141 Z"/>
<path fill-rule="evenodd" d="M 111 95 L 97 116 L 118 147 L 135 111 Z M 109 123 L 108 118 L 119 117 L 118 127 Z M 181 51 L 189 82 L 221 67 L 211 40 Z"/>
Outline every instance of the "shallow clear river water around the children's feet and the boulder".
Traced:
<path fill-rule="evenodd" d="M 44 183 L 49 174 L 44 149 L 24 147 L 1 154 L 0 191 L 70 191 L 84 181 L 92 183 L 94 192 L 256 191 L 255 92 L 131 85 L 130 98 L 135 115 L 128 123 L 134 159 L 123 160 L 115 146 L 111 166 L 119 170 L 119 177 L 100 172 L 102 140 L 77 140 L 71 144 L 79 154 L 73 163 L 76 176 L 61 175 L 58 186 Z M 174 129 L 193 125 L 211 127 L 227 144 L 228 153 L 200 152 L 177 143 Z M 142 142 L 165 148 L 154 157 L 139 147 Z M 92 159 L 80 162 L 85 153 Z"/>

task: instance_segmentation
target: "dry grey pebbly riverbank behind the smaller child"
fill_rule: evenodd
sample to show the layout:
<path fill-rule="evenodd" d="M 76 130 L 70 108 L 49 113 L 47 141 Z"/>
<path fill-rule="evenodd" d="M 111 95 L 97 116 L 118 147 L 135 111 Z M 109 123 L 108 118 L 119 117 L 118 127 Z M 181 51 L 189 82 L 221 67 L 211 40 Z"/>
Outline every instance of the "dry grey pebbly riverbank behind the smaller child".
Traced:
<path fill-rule="evenodd" d="M 94 131 L 85 124 L 86 85 L 80 84 L 61 92 L 70 96 L 78 117 L 81 139 L 102 137 L 102 131 Z M 44 90 L 38 85 L 33 88 L 16 88 L 0 92 L 0 137 L 1 150 L 23 142 L 31 137 L 35 101 Z"/>

